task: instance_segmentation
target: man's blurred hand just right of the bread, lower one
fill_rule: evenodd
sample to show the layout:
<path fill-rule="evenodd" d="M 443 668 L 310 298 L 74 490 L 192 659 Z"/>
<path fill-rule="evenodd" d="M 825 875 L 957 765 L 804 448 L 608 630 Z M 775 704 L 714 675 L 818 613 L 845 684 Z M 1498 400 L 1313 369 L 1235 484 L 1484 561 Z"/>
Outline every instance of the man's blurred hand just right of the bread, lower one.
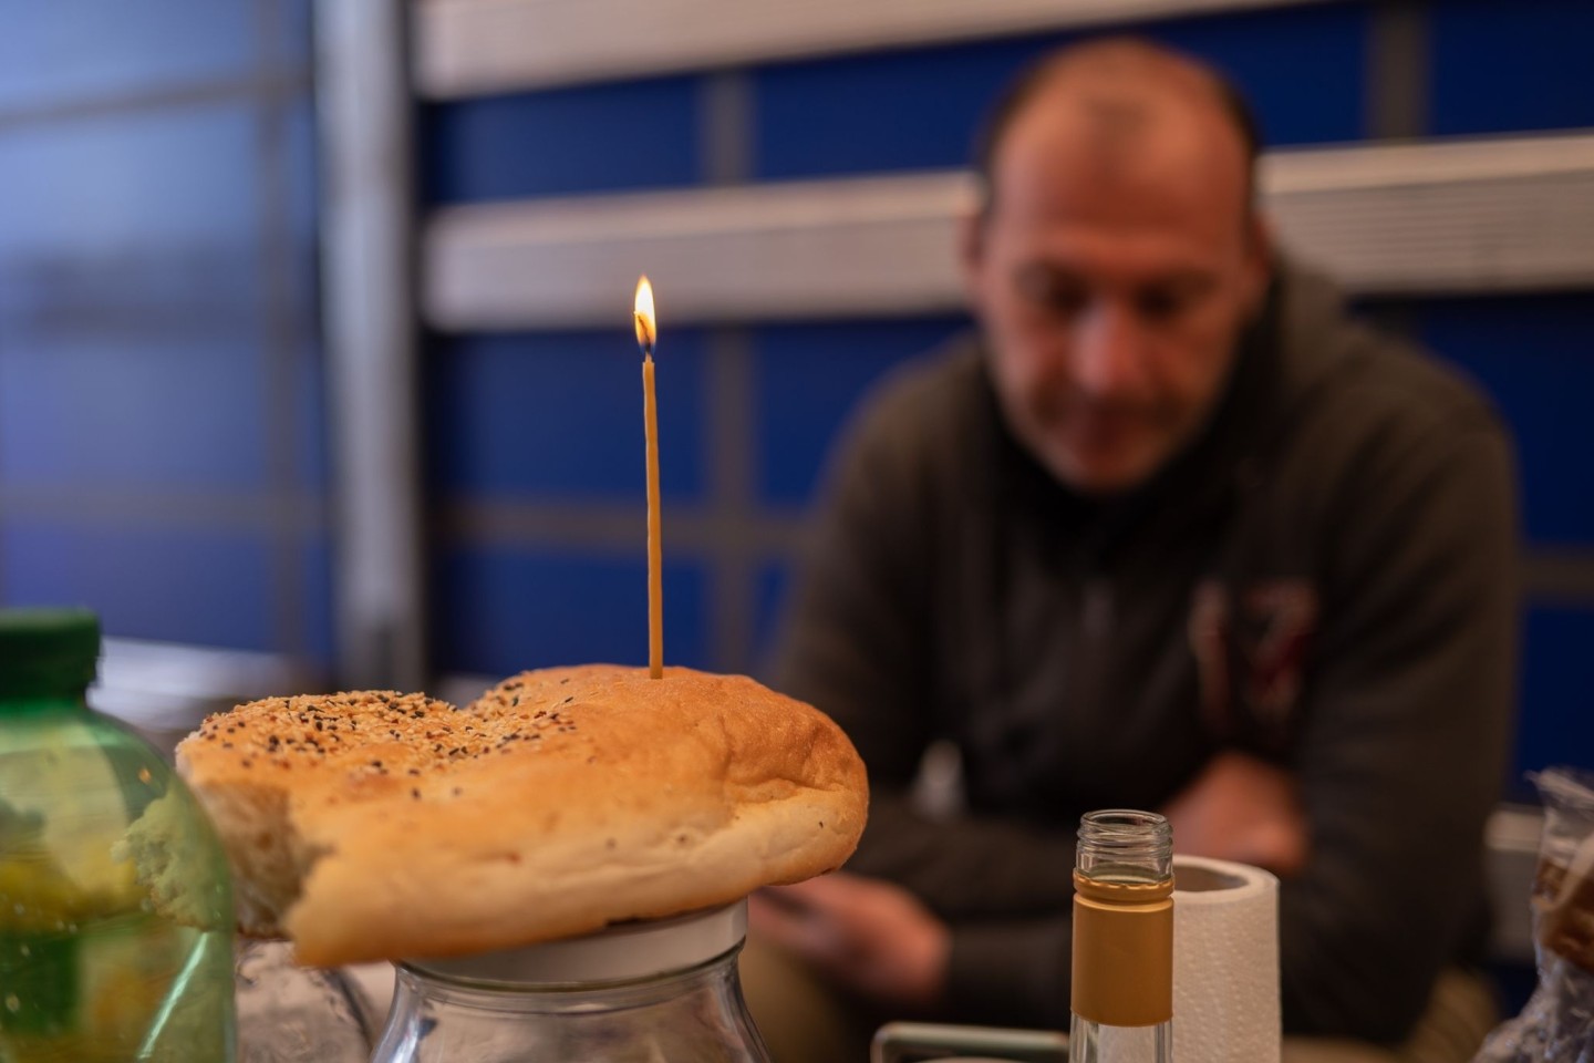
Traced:
<path fill-rule="evenodd" d="M 748 913 L 754 932 L 861 996 L 913 1014 L 945 991 L 952 934 L 893 883 L 838 872 L 768 886 Z"/>

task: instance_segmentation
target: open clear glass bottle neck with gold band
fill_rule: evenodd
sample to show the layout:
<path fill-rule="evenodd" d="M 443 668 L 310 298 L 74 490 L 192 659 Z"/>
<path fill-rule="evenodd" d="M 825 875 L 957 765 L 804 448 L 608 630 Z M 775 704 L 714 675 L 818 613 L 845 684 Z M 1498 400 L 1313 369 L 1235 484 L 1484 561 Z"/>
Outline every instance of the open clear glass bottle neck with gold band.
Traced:
<path fill-rule="evenodd" d="M 1071 1063 L 1173 1058 L 1173 834 L 1156 813 L 1079 821 Z"/>

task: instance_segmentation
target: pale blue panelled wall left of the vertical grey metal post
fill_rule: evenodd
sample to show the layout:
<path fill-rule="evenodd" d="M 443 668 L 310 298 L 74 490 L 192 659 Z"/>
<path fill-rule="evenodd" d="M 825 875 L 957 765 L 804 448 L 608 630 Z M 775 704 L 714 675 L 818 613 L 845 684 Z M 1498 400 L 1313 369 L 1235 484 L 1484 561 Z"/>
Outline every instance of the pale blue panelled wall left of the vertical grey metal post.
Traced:
<path fill-rule="evenodd" d="M 11 8 L 0 604 L 327 665 L 311 3 Z"/>

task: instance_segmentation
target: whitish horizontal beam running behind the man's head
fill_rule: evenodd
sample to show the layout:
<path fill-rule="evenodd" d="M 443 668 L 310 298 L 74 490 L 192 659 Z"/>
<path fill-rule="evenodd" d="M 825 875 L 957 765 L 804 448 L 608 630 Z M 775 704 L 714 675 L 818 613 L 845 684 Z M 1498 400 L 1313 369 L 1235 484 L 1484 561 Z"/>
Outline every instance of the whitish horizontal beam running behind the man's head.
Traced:
<path fill-rule="evenodd" d="M 1594 282 L 1594 134 L 1277 151 L 1286 249 L 1361 293 Z M 603 325 L 639 269 L 677 322 L 894 316 L 963 304 L 963 171 L 478 204 L 424 234 L 445 330 Z"/>

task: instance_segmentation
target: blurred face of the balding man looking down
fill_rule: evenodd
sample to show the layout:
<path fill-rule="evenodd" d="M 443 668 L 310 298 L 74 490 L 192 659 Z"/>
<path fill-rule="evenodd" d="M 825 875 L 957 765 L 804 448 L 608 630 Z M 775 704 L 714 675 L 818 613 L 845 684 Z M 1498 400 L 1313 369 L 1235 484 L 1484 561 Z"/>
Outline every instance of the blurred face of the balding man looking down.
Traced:
<path fill-rule="evenodd" d="M 1089 494 L 1143 483 L 1196 435 L 1267 280 L 1239 135 L 1170 107 L 1114 135 L 1086 107 L 1031 102 L 969 223 L 1007 422 Z"/>

